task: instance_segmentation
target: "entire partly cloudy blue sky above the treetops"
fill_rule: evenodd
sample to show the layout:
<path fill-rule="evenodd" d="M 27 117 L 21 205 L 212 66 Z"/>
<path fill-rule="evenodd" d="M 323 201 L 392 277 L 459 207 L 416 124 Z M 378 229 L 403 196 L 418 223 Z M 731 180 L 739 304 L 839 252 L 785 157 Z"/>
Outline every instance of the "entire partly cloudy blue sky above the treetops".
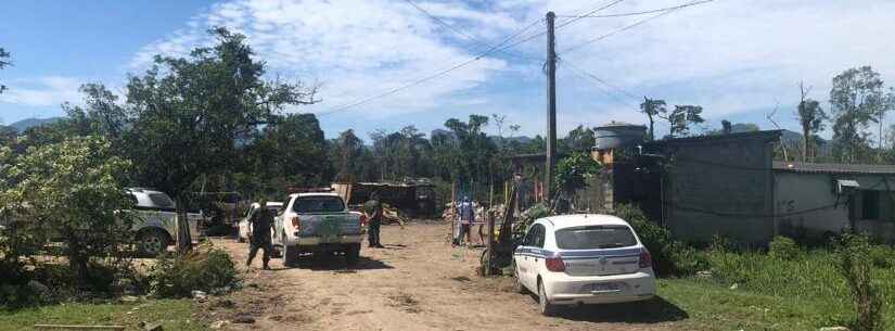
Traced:
<path fill-rule="evenodd" d="M 615 1 L 414 2 L 495 44 L 548 10 L 562 23 L 570 20 L 562 15 Z M 600 13 L 686 2 L 625 0 Z M 716 0 L 563 52 L 650 15 L 577 21 L 557 37 L 560 130 L 643 123 L 638 96 L 703 105 L 708 127 L 727 118 L 772 128 L 765 116 L 778 107 L 775 119 L 797 129 L 800 80 L 824 107 L 831 78 L 849 67 L 872 65 L 895 86 L 895 42 L 886 41 L 895 30 L 893 12 L 895 1 L 886 0 Z M 77 88 L 87 81 L 122 92 L 126 75 L 145 69 L 153 54 L 182 55 L 207 44 L 205 29 L 218 25 L 247 35 L 271 78 L 321 86 L 323 102 L 292 112 L 325 113 L 463 63 L 483 49 L 399 0 L 4 1 L 0 47 L 12 53 L 14 66 L 0 71 L 10 88 L 0 94 L 0 118 L 61 115 L 60 104 L 79 103 Z M 522 36 L 542 29 L 537 23 Z M 498 113 L 507 116 L 504 133 L 510 124 L 521 125 L 523 135 L 541 133 L 545 43 L 534 38 L 444 77 L 321 116 L 323 129 L 328 137 L 347 128 L 366 136 L 406 125 L 427 132 L 448 117 Z"/>

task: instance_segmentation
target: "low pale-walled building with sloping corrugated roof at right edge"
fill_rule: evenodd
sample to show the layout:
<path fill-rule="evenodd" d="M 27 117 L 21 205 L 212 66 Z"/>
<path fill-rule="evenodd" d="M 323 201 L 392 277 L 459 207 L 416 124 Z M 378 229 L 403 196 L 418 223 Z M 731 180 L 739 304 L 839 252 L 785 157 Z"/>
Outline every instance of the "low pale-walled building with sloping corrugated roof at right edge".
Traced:
<path fill-rule="evenodd" d="M 895 166 L 773 163 L 778 232 L 822 240 L 854 229 L 895 242 Z"/>

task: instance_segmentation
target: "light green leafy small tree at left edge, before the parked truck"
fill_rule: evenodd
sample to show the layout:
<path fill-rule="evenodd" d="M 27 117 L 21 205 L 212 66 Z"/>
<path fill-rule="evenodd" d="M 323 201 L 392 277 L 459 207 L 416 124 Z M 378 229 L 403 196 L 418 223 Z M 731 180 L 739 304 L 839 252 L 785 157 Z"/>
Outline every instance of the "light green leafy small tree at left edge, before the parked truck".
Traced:
<path fill-rule="evenodd" d="M 119 213 L 132 206 L 123 190 L 129 167 L 99 137 L 28 149 L 7 170 L 13 184 L 0 193 L 0 206 L 18 221 L 3 231 L 37 246 L 61 237 L 69 268 L 87 284 L 90 267 L 108 257 L 123 260 L 122 247 L 131 240 L 129 214 Z M 13 250 L 13 256 L 22 252 Z"/>

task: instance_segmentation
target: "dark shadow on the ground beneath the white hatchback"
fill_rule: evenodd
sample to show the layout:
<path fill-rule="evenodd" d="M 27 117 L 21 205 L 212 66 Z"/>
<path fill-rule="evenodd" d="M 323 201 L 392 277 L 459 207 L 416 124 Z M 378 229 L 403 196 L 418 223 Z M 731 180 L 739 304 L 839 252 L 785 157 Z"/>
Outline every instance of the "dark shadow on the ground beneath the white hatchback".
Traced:
<path fill-rule="evenodd" d="M 636 303 L 560 307 L 557 317 L 590 322 L 659 323 L 685 320 L 690 315 L 675 304 L 655 296 Z"/>

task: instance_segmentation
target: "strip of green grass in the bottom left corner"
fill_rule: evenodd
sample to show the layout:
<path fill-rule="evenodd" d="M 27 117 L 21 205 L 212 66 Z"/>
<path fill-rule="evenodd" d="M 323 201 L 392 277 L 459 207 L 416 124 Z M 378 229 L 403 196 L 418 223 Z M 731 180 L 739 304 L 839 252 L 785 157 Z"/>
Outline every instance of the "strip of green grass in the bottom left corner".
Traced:
<path fill-rule="evenodd" d="M 0 308 L 0 331 L 31 331 L 37 323 L 124 324 L 128 330 L 140 330 L 138 326 L 141 321 L 162 322 L 165 330 L 209 330 L 205 321 L 192 317 L 193 311 L 190 300 L 65 303 L 16 310 Z"/>

